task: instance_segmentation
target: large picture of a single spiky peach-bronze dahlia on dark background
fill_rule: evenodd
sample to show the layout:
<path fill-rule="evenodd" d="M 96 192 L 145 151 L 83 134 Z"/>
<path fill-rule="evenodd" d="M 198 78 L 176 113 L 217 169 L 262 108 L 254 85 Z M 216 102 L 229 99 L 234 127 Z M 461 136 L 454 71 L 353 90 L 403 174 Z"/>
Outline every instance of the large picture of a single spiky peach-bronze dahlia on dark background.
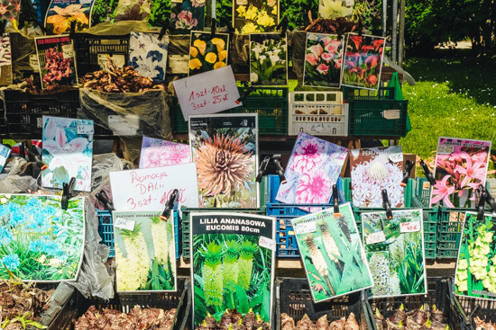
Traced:
<path fill-rule="evenodd" d="M 257 114 L 189 116 L 200 208 L 256 208 Z"/>

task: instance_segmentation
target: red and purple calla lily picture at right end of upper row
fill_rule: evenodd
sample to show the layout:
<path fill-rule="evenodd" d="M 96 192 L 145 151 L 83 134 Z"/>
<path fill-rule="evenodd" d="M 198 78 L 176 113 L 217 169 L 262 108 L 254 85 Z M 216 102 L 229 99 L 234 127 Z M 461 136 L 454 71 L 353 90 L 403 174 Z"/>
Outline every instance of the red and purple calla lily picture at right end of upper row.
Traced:
<path fill-rule="evenodd" d="M 385 39 L 348 33 L 342 85 L 377 90 L 381 80 Z"/>

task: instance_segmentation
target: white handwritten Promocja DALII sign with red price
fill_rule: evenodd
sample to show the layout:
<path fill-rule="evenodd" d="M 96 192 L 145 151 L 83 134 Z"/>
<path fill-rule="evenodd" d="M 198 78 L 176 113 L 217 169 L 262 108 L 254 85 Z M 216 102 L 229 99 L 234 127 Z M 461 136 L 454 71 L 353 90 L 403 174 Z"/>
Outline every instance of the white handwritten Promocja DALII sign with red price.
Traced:
<path fill-rule="evenodd" d="M 174 189 L 178 208 L 198 207 L 195 163 L 110 172 L 110 184 L 115 210 L 163 210 Z"/>

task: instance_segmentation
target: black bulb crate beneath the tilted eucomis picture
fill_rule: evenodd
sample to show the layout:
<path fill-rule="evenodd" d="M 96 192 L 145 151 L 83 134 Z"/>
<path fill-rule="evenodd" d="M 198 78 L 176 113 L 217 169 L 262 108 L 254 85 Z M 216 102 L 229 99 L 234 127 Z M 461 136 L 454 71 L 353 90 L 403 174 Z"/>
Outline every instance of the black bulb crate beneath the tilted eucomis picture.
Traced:
<path fill-rule="evenodd" d="M 276 279 L 276 315 L 275 329 L 280 330 L 280 315 L 286 313 L 298 322 L 305 314 L 312 321 L 327 316 L 327 321 L 335 321 L 354 313 L 360 329 L 372 329 L 370 318 L 366 314 L 366 301 L 361 292 L 349 296 L 314 303 L 308 287 L 308 280 L 301 278 L 278 277 Z"/>

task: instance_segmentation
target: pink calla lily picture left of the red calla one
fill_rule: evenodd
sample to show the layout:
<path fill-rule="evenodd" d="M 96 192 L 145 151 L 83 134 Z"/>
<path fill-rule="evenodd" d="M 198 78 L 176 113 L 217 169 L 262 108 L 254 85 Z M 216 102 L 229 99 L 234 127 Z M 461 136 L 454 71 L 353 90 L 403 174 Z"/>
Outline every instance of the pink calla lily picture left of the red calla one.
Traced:
<path fill-rule="evenodd" d="M 307 33 L 303 85 L 338 88 L 343 40 L 333 34 Z"/>

